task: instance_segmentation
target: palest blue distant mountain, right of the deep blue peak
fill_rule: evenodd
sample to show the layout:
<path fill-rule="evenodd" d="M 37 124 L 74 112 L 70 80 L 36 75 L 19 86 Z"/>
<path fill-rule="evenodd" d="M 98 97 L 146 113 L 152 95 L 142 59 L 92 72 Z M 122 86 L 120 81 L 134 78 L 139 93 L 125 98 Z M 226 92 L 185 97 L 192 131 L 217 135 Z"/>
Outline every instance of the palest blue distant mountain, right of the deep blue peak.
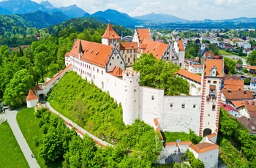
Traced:
<path fill-rule="evenodd" d="M 155 22 L 155 23 L 160 23 L 160 22 L 166 22 L 166 23 L 171 23 L 171 22 L 187 22 L 188 20 L 185 19 L 181 19 L 178 18 L 176 16 L 173 15 L 166 15 L 166 14 L 156 14 L 154 12 L 148 14 L 148 15 L 142 15 L 142 16 L 136 16 L 133 17 L 139 20 L 148 20 L 151 22 Z"/>

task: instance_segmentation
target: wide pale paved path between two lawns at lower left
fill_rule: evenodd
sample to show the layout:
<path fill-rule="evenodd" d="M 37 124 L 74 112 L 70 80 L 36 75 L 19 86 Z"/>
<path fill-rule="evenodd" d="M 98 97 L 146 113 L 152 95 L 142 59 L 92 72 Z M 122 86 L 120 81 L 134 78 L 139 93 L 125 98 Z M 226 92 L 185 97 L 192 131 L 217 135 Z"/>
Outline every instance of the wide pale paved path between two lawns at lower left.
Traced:
<path fill-rule="evenodd" d="M 28 143 L 23 137 L 23 134 L 20 131 L 20 127 L 18 126 L 18 122 L 16 120 L 17 113 L 18 110 L 5 110 L 7 122 L 9 123 L 12 129 L 12 132 L 18 142 L 18 145 L 20 145 L 20 149 L 22 150 L 26 158 L 26 161 L 28 161 L 29 167 L 37 168 L 39 167 L 39 164 L 37 164 L 37 160 L 35 158 L 31 157 L 32 151 L 30 150 Z"/>

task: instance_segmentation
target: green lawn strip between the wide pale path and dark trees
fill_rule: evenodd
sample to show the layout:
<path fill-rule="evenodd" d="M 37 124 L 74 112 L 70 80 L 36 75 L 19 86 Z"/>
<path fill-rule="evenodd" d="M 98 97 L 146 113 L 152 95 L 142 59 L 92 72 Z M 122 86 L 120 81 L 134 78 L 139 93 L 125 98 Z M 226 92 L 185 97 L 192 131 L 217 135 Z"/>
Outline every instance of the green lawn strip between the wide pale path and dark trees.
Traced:
<path fill-rule="evenodd" d="M 34 157 L 37 159 L 37 162 L 40 167 L 61 167 L 61 161 L 55 161 L 52 163 L 45 164 L 45 161 L 38 156 L 38 146 L 35 145 L 33 139 L 37 137 L 39 140 L 42 137 L 42 130 L 38 126 L 39 118 L 34 115 L 33 108 L 24 108 L 18 112 L 17 121 L 20 126 L 26 142 L 28 142 L 29 147 L 34 153 Z"/>

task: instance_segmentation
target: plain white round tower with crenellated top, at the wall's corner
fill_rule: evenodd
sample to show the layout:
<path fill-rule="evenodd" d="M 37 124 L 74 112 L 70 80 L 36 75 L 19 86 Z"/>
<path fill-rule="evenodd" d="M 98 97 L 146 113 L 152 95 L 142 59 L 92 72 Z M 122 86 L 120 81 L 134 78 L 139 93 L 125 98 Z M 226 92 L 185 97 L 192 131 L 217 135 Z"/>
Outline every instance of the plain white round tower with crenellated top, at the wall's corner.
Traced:
<path fill-rule="evenodd" d="M 131 125 L 139 118 L 139 82 L 140 72 L 123 72 L 123 121 L 126 125 Z"/>

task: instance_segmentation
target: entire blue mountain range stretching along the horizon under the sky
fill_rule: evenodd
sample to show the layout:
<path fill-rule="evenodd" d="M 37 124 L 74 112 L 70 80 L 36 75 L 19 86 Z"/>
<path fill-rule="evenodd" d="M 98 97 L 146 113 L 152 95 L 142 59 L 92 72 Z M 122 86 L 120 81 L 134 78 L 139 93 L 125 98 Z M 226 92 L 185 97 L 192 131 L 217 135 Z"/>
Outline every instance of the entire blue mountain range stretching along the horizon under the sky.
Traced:
<path fill-rule="evenodd" d="M 42 17 L 38 15 L 33 16 L 36 11 L 45 12 Z M 46 14 L 47 13 L 47 14 Z M 50 22 L 48 24 L 56 24 L 68 20 L 70 18 L 97 18 L 104 23 L 113 23 L 127 28 L 134 28 L 135 26 L 151 26 L 153 28 L 165 28 L 171 26 L 172 28 L 181 26 L 182 28 L 191 28 L 197 26 L 209 28 L 221 28 L 221 26 L 231 26 L 237 28 L 244 28 L 244 26 L 256 27 L 256 18 L 234 18 L 228 20 L 186 20 L 177 18 L 173 15 L 156 14 L 154 12 L 130 17 L 126 13 L 118 12 L 113 9 L 105 11 L 98 11 L 94 14 L 89 14 L 77 5 L 73 4 L 69 7 L 54 7 L 49 1 L 42 1 L 38 4 L 31 0 L 7 0 L 0 2 L 0 15 L 22 15 L 23 18 L 29 20 L 31 23 L 44 22 L 47 20 L 47 15 L 50 15 Z M 32 19 L 32 20 L 30 20 Z M 43 25 L 43 24 L 42 24 Z M 40 26 L 42 27 L 42 26 Z M 37 27 L 39 28 L 39 27 Z"/>

